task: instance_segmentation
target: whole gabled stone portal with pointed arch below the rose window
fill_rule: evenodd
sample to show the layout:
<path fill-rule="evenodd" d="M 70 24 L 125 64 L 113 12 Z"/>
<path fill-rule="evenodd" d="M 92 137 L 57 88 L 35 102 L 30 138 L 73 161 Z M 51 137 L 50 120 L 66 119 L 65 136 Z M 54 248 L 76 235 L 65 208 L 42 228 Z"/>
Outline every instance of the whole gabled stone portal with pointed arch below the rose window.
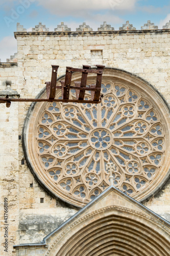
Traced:
<path fill-rule="evenodd" d="M 54 230 L 45 256 L 168 256 L 169 223 L 113 186 Z"/>

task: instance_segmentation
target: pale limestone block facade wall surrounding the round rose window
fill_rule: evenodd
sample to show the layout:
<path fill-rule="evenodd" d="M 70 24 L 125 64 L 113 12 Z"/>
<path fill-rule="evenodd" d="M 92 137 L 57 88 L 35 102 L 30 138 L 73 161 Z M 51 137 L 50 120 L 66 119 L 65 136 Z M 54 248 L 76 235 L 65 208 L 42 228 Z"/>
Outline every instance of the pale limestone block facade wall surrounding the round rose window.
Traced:
<path fill-rule="evenodd" d="M 1 91 L 6 90 L 6 80 L 11 80 L 11 89 L 21 98 L 35 98 L 44 88 L 45 81 L 51 80 L 51 65 L 60 66 L 60 76 L 65 73 L 66 66 L 82 68 L 82 65 L 94 65 L 94 61 L 100 61 L 107 67 L 128 71 L 148 81 L 170 103 L 168 29 L 149 32 L 130 30 L 127 25 L 129 30 L 127 27 L 120 31 L 89 31 L 88 28 L 83 31 L 81 28 L 77 32 L 48 32 L 40 25 L 33 32 L 15 32 L 17 63 L 0 63 Z M 99 53 L 96 55 L 99 61 L 94 58 L 95 51 Z M 1 216 L 4 216 L 4 198 L 8 198 L 8 253 L 14 256 L 16 249 L 13 245 L 40 242 L 77 209 L 68 207 L 44 190 L 26 162 L 22 130 L 30 103 L 12 102 L 10 108 L 5 104 L 0 104 L 0 108 Z M 170 183 L 167 180 L 144 205 L 169 221 L 169 198 Z M 5 224 L 3 218 L 1 224 Z M 2 228 L 2 256 L 7 255 L 3 243 Z M 36 250 L 38 255 L 39 248 Z"/>

